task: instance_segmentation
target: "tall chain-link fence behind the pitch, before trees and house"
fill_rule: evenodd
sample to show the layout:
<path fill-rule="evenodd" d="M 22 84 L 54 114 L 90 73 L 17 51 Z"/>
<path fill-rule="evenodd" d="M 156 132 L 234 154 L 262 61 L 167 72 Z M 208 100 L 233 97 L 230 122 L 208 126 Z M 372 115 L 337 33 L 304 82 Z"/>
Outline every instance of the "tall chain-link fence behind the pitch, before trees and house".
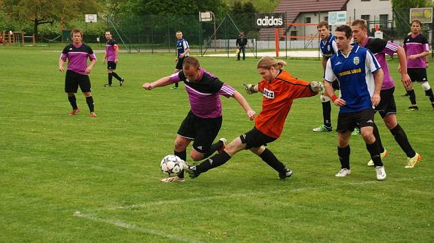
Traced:
<path fill-rule="evenodd" d="M 371 12 L 371 14 L 364 14 Z M 368 35 L 375 36 L 375 26 L 378 25 L 382 37 L 392 40 L 398 45 L 402 44 L 404 37 L 410 32 L 409 9 L 393 9 L 393 14 L 373 14 L 375 10 L 348 10 L 347 20 L 366 19 L 368 23 Z M 378 11 L 377 11 L 378 12 Z M 390 12 L 390 11 L 389 11 Z M 304 14 L 304 13 L 303 13 Z M 315 13 L 311 13 L 315 14 Z M 293 38 L 291 25 L 279 29 L 280 51 L 294 49 L 318 49 L 319 37 L 316 32 L 316 23 L 326 19 L 327 12 L 317 12 L 312 19 L 298 16 L 298 19 L 287 19 L 289 13 L 285 13 L 286 23 L 307 24 L 298 27 L 298 35 L 305 38 Z M 307 15 L 306 15 L 307 16 Z M 300 20 L 302 19 L 302 21 Z M 233 56 L 236 48 L 238 32 L 243 30 L 248 39 L 247 52 L 256 56 L 258 51 L 275 50 L 275 34 L 273 31 L 260 31 L 256 25 L 254 12 L 244 14 L 217 14 L 213 21 L 200 22 L 199 14 L 164 16 L 102 16 L 98 25 L 83 25 L 84 42 L 96 43 L 99 38 L 100 45 L 105 43 L 104 32 L 110 30 L 122 49 L 132 52 L 176 52 L 176 31 L 183 32 L 192 50 L 201 55 L 220 53 Z M 332 28 L 334 30 L 334 27 Z M 433 23 L 424 23 L 422 34 L 428 38 L 433 46 Z M 45 36 L 61 41 L 59 33 Z"/>

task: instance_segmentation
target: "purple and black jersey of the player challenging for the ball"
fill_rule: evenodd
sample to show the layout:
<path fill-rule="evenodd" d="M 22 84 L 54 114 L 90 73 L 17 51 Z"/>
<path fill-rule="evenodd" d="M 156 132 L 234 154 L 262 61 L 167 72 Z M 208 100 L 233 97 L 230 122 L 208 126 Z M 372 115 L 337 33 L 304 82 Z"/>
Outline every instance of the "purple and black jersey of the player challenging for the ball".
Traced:
<path fill-rule="evenodd" d="M 217 77 L 200 69 L 198 82 L 189 82 L 183 71 L 172 74 L 170 81 L 183 81 L 188 94 L 190 109 L 201 118 L 216 118 L 222 115 L 222 104 L 219 95 L 227 98 L 235 93 L 235 89 L 221 82 Z"/>

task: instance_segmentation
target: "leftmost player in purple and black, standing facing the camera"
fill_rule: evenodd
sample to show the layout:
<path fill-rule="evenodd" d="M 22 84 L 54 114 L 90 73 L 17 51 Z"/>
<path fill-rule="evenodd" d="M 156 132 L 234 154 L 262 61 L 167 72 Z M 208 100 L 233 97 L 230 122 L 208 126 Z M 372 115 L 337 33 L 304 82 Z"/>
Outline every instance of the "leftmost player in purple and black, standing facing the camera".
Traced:
<path fill-rule="evenodd" d="M 79 86 L 86 97 L 87 106 L 89 106 L 90 117 L 98 117 L 94 113 L 94 99 L 91 93 L 91 85 L 88 74 L 92 71 L 96 63 L 96 56 L 92 48 L 83 44 L 83 33 L 74 29 L 71 32 L 72 44 L 67 45 L 59 59 L 59 71 L 65 71 L 63 65 L 68 59 L 68 70 L 65 76 L 65 93 L 68 93 L 68 100 L 72 106 L 70 115 L 79 113 L 80 108 L 77 106 L 76 97 Z M 90 59 L 90 65 L 87 66 L 87 58 Z"/>

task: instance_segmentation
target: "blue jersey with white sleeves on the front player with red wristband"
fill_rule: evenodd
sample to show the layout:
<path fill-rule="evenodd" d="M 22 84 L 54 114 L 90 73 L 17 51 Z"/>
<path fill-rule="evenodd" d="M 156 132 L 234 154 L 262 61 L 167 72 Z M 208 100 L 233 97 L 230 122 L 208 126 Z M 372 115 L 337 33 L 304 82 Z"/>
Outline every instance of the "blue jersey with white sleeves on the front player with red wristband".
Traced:
<path fill-rule="evenodd" d="M 347 104 L 340 106 L 340 113 L 352 113 L 373 108 L 371 96 L 375 89 L 373 73 L 380 69 L 378 60 L 369 49 L 353 45 L 348 56 L 340 51 L 327 61 L 324 79 L 339 82 L 339 97 Z"/>

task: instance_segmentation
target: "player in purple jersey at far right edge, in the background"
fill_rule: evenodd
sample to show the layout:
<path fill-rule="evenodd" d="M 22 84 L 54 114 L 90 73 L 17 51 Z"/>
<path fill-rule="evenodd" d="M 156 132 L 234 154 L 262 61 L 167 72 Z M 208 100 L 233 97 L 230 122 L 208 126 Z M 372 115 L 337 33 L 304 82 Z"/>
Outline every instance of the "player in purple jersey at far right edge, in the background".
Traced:
<path fill-rule="evenodd" d="M 420 33 L 422 23 L 418 20 L 411 22 L 411 35 L 404 38 L 404 49 L 407 55 L 407 71 L 412 82 L 420 82 L 424 88 L 425 95 L 429 97 L 431 106 L 434 108 L 433 89 L 428 83 L 426 76 L 426 56 L 429 55 L 428 40 Z M 401 68 L 401 67 L 400 67 Z M 416 95 L 413 90 L 413 83 L 406 86 L 411 106 L 407 111 L 417 111 L 419 106 L 416 103 Z"/>

